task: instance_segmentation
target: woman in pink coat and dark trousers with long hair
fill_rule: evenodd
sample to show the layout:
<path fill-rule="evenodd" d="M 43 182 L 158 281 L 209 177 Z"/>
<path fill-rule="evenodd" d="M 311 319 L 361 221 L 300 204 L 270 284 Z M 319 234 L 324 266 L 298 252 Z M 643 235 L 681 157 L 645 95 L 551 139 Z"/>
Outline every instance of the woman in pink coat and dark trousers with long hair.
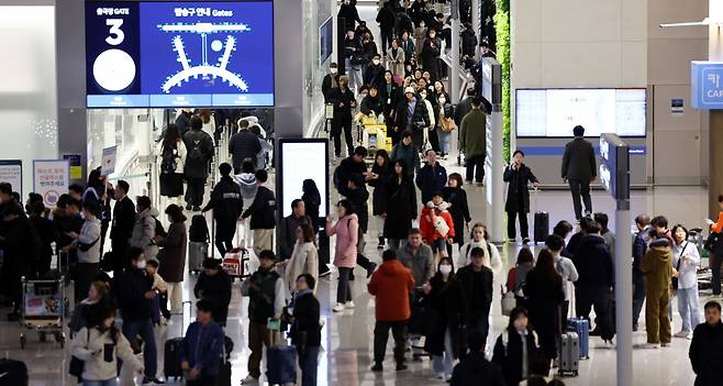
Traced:
<path fill-rule="evenodd" d="M 338 269 L 338 288 L 336 290 L 336 305 L 332 310 L 341 312 L 344 309 L 354 308 L 349 275 L 356 266 L 359 219 L 354 212 L 354 206 L 346 199 L 338 201 L 336 214 L 338 220 L 335 223 L 331 214 L 326 217 L 325 229 L 329 236 L 336 235 L 334 265 Z"/>

